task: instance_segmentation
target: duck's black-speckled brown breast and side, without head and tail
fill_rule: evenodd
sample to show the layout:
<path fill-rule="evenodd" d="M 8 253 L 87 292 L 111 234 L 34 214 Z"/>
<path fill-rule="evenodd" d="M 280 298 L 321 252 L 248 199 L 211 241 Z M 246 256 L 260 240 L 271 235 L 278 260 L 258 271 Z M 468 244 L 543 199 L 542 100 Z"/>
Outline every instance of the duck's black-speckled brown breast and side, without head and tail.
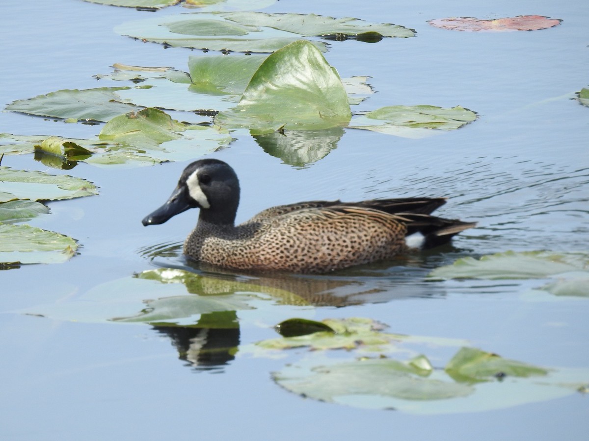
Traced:
<path fill-rule="evenodd" d="M 290 207 L 264 211 L 235 228 L 199 224 L 184 252 L 225 268 L 319 273 L 406 251 L 398 216 L 369 208 Z"/>

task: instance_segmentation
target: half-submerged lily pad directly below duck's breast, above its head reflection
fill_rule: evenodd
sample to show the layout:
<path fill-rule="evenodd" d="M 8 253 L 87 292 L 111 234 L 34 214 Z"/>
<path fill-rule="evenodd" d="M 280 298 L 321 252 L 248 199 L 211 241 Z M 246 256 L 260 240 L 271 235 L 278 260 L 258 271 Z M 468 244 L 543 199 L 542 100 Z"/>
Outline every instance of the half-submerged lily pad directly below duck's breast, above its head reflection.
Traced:
<path fill-rule="evenodd" d="M 202 316 L 210 313 L 253 310 L 272 303 L 306 305 L 304 300 L 284 290 L 181 269 L 158 268 L 102 283 L 68 302 L 38 305 L 18 312 L 77 322 L 190 326 L 201 323 Z"/>

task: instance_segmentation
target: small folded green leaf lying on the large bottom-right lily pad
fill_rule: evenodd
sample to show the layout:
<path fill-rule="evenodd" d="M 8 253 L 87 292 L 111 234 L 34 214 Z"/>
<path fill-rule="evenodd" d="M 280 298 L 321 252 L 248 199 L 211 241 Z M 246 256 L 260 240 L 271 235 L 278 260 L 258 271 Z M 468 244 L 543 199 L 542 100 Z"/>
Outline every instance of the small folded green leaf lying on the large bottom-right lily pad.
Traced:
<path fill-rule="evenodd" d="M 446 373 L 460 382 L 478 382 L 510 377 L 546 376 L 548 370 L 476 348 L 461 348 L 448 362 Z"/>

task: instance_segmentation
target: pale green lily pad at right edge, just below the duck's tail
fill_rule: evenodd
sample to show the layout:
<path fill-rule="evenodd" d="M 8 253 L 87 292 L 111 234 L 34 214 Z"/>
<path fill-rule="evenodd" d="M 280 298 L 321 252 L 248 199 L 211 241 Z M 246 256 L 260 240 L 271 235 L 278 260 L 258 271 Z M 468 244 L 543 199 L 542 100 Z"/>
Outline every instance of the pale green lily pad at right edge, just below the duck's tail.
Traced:
<path fill-rule="evenodd" d="M 507 251 L 480 259 L 456 260 L 429 273 L 434 279 L 536 279 L 575 270 L 586 270 L 589 258 L 581 253 Z"/>

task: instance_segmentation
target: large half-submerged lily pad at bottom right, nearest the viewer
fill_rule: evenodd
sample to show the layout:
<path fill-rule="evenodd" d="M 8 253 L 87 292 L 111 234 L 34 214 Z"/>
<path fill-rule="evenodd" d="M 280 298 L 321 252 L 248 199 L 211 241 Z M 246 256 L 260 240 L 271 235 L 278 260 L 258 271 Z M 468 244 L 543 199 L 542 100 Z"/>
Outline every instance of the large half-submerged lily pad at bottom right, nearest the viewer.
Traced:
<path fill-rule="evenodd" d="M 459 350 L 455 359 L 466 352 L 471 348 Z M 274 381 L 290 392 L 322 402 L 417 414 L 485 412 L 542 402 L 576 393 L 589 377 L 587 369 L 548 371 L 509 361 L 499 364 L 522 375 L 461 381 L 440 369 L 420 369 L 417 365 L 426 360 L 423 356 L 416 359 L 416 365 L 413 360 L 386 358 L 341 362 L 316 354 L 274 372 Z"/>

